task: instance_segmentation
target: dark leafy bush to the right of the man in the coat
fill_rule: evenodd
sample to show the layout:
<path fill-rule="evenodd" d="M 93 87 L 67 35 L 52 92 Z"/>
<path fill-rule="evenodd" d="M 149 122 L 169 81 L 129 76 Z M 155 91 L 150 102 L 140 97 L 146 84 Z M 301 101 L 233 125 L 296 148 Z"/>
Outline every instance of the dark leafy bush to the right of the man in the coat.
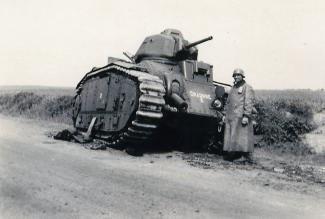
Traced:
<path fill-rule="evenodd" d="M 315 129 L 312 107 L 296 100 L 258 100 L 255 133 L 270 145 L 281 142 L 300 142 L 300 135 Z"/>

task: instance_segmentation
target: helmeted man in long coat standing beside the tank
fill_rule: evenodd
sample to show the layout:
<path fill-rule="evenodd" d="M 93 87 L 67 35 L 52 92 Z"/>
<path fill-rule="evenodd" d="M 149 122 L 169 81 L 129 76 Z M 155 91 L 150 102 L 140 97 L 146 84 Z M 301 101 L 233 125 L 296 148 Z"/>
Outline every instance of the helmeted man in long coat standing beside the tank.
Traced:
<path fill-rule="evenodd" d="M 252 163 L 254 150 L 252 114 L 255 94 L 253 88 L 244 80 L 242 69 L 233 72 L 234 85 L 231 88 L 225 106 L 224 159 L 233 161 L 246 158 Z"/>

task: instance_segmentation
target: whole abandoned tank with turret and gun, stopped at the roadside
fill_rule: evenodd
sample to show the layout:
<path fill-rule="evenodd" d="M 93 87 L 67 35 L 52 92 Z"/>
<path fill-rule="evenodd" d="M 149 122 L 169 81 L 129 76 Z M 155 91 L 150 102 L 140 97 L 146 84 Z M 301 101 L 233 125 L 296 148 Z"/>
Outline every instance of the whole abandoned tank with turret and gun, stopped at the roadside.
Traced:
<path fill-rule="evenodd" d="M 166 29 L 145 38 L 128 61 L 108 58 L 76 87 L 73 122 L 110 147 L 218 145 L 226 92 L 196 45 Z M 217 128 L 218 127 L 218 128 Z"/>

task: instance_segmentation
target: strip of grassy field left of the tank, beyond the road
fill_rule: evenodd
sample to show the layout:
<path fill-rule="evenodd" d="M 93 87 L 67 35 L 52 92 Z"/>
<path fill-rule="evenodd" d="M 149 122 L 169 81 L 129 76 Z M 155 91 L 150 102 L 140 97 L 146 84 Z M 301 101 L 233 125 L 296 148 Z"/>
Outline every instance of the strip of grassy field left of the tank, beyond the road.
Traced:
<path fill-rule="evenodd" d="M 71 124 L 73 88 L 0 87 L 0 113 Z"/>

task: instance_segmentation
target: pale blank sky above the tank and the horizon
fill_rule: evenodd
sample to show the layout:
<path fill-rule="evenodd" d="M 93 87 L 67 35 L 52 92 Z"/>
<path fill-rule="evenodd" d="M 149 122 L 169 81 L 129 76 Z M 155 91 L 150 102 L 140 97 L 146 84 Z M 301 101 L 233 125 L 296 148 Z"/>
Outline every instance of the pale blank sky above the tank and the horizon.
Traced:
<path fill-rule="evenodd" d="M 325 88 L 323 0 L 0 0 L 0 85 L 74 87 L 107 57 L 175 28 L 214 80 L 242 68 L 256 89 Z"/>

